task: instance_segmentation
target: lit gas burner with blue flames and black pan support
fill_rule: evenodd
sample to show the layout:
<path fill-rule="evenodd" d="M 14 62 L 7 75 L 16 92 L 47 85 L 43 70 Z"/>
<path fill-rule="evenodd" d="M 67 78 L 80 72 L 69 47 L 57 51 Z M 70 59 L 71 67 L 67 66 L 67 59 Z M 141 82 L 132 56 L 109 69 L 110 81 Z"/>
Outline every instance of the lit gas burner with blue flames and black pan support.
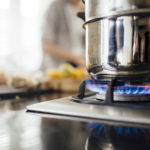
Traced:
<path fill-rule="evenodd" d="M 80 84 L 78 95 L 71 100 L 78 103 L 150 108 L 150 82 L 127 83 L 104 80 L 85 80 Z M 86 94 L 86 88 L 93 93 Z"/>

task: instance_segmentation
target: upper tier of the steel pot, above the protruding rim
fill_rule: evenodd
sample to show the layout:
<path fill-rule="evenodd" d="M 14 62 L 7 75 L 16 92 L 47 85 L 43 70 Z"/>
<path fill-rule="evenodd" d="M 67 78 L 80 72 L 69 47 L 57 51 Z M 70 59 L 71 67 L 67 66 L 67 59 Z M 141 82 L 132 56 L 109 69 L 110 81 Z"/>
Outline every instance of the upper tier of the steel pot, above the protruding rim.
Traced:
<path fill-rule="evenodd" d="M 85 1 L 86 20 L 112 16 L 112 14 L 133 14 L 139 12 L 149 12 L 150 9 L 150 0 L 83 1 Z"/>

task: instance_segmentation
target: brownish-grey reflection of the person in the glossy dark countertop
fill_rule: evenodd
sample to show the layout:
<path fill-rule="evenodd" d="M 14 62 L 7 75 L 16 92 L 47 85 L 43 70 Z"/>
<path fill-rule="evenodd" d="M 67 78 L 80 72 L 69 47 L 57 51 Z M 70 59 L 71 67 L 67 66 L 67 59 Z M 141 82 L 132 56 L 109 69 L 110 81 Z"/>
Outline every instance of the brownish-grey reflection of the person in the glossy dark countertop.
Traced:
<path fill-rule="evenodd" d="M 88 134 L 85 123 L 42 118 L 43 150 L 83 150 Z"/>

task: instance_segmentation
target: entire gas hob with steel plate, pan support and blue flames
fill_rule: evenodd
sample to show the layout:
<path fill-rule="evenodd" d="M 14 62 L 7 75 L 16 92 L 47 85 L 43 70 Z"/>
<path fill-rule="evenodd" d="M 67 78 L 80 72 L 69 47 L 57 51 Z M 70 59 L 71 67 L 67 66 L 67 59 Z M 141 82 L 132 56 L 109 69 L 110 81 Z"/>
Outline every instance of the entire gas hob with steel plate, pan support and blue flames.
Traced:
<path fill-rule="evenodd" d="M 86 86 L 93 92 L 87 94 Z M 83 81 L 76 96 L 34 104 L 27 107 L 27 112 L 81 121 L 149 125 L 150 85 Z"/>

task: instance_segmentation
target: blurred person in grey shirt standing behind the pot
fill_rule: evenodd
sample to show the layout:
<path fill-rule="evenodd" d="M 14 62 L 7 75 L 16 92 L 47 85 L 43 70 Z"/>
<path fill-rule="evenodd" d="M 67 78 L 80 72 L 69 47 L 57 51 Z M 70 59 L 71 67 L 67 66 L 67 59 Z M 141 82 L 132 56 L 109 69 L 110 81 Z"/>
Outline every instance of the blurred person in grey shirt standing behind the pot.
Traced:
<path fill-rule="evenodd" d="M 42 28 L 42 70 L 64 62 L 84 66 L 83 21 L 77 17 L 80 11 L 84 11 L 81 0 L 54 0 L 48 8 Z"/>

